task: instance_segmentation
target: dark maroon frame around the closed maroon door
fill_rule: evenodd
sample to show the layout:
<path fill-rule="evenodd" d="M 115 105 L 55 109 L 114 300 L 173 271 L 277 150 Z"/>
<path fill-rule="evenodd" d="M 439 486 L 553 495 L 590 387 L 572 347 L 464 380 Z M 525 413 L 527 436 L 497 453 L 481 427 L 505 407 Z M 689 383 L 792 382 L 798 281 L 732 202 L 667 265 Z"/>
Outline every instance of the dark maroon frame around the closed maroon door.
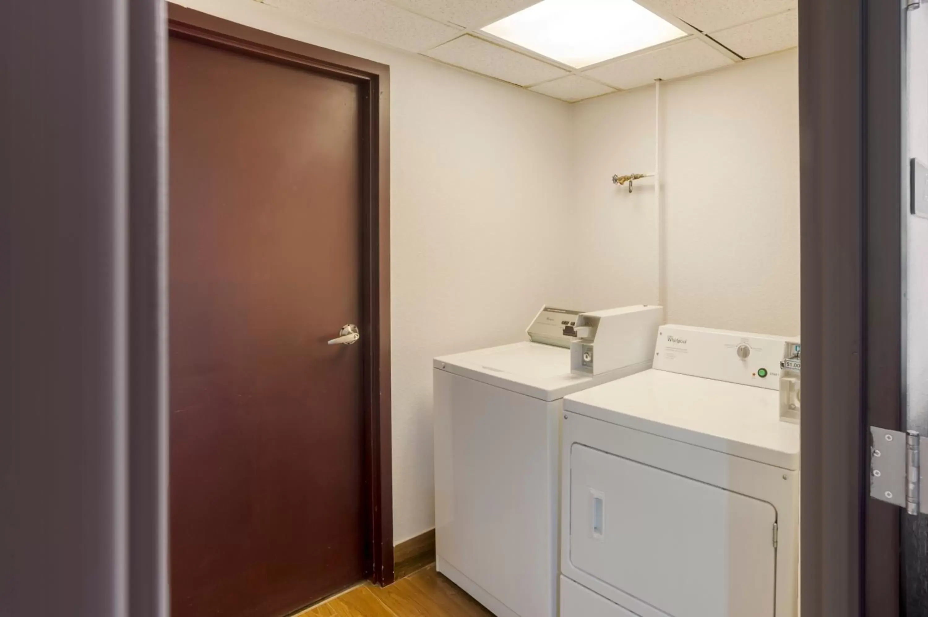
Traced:
<path fill-rule="evenodd" d="M 390 68 L 174 4 L 168 35 L 357 84 L 361 105 L 361 231 L 368 554 L 365 574 L 393 583 L 390 366 Z"/>

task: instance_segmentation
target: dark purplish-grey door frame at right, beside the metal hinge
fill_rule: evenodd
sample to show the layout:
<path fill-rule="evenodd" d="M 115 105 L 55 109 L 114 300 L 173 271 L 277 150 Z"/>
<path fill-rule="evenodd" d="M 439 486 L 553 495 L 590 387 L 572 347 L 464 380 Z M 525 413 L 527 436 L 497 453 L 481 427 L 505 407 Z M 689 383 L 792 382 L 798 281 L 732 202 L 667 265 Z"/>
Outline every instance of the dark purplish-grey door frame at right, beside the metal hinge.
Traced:
<path fill-rule="evenodd" d="M 901 614 L 870 426 L 905 426 L 905 9 L 800 0 L 802 613 Z"/>

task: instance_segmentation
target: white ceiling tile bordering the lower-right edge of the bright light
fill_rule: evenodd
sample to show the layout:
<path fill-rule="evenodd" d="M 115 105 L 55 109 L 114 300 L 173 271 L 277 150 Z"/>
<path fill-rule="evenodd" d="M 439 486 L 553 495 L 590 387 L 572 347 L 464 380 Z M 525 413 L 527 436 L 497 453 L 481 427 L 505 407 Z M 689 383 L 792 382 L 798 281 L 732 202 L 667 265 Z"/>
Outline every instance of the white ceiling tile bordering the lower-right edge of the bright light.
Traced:
<path fill-rule="evenodd" d="M 733 60 L 702 43 L 700 39 L 691 38 L 646 54 L 622 58 L 582 74 L 627 90 L 651 84 L 655 79 L 676 79 L 733 63 Z"/>

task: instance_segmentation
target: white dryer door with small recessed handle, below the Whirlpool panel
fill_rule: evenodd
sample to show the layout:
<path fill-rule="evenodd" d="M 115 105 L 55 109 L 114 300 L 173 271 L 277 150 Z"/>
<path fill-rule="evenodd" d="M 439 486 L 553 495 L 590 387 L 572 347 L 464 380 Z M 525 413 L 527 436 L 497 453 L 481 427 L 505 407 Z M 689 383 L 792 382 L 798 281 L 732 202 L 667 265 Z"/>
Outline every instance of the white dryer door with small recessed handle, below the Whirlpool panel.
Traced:
<path fill-rule="evenodd" d="M 772 617 L 767 502 L 574 443 L 574 567 L 673 617 Z"/>

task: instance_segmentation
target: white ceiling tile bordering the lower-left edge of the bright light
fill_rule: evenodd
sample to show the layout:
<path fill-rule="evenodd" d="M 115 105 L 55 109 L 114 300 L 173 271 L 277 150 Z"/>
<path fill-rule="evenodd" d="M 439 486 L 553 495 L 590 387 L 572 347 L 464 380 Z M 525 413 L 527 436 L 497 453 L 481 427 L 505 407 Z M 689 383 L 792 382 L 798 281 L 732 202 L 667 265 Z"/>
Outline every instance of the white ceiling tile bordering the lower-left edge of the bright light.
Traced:
<path fill-rule="evenodd" d="M 448 64 L 496 77 L 512 84 L 531 85 L 568 74 L 567 71 L 529 58 L 506 47 L 466 34 L 435 47 L 427 56 Z"/>

